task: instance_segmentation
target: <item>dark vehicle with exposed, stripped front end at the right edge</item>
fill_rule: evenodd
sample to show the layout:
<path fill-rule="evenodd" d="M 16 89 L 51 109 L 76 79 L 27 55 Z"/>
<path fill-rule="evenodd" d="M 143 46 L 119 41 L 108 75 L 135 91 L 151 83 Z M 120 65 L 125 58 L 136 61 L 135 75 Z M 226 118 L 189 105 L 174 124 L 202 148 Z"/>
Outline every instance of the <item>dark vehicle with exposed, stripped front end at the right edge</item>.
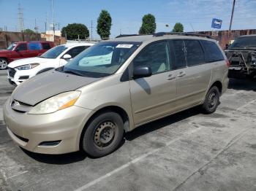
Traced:
<path fill-rule="evenodd" d="M 225 54 L 230 61 L 229 77 L 256 77 L 256 35 L 239 36 Z"/>

